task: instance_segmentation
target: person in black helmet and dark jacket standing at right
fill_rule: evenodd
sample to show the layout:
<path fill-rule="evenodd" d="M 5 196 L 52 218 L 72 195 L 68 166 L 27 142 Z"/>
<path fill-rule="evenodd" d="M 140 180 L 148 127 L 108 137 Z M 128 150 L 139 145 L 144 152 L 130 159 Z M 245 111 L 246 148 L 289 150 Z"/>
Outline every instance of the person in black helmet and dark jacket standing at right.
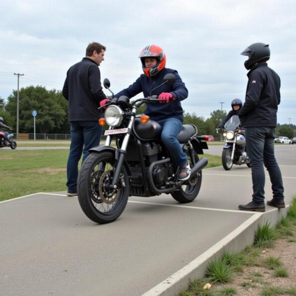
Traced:
<path fill-rule="evenodd" d="M 267 205 L 284 208 L 284 186 L 282 174 L 274 156 L 276 114 L 281 101 L 281 80 L 278 74 L 267 66 L 270 50 L 268 44 L 254 43 L 242 53 L 248 56 L 245 68 L 248 72 L 246 99 L 238 116 L 245 127 L 246 145 L 252 169 L 253 199 L 246 205 L 239 205 L 244 211 L 265 211 L 264 166 L 267 168 L 273 198 Z"/>

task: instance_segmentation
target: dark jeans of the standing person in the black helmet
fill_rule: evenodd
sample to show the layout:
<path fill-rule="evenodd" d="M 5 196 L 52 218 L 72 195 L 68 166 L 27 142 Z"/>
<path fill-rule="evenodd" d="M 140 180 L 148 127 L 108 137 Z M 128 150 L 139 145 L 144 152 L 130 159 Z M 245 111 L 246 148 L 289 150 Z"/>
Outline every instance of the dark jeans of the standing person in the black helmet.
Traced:
<path fill-rule="evenodd" d="M 264 202 L 265 173 L 263 164 L 269 174 L 273 198 L 283 200 L 282 174 L 274 156 L 275 128 L 246 127 L 245 137 L 252 169 L 253 201 Z"/>

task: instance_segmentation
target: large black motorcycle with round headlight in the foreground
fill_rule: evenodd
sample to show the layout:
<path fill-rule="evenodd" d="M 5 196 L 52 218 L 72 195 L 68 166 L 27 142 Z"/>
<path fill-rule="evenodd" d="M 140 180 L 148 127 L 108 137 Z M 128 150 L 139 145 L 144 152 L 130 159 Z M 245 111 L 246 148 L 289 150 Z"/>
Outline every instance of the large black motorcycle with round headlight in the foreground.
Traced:
<path fill-rule="evenodd" d="M 167 74 L 161 85 L 173 85 L 174 81 L 174 74 Z M 109 89 L 108 79 L 104 86 Z M 166 193 L 180 203 L 193 201 L 200 190 L 201 170 L 208 163 L 197 155 L 208 148 L 205 137 L 197 136 L 194 125 L 183 125 L 177 139 L 188 156 L 191 175 L 187 181 L 178 181 L 179 168 L 160 141 L 161 125 L 147 115 L 136 114 L 144 103 L 158 103 L 157 96 L 133 102 L 122 96 L 113 101 L 100 119 L 109 125 L 106 144 L 90 149 L 78 175 L 78 200 L 85 215 L 94 222 L 112 222 L 122 214 L 129 196 Z"/>

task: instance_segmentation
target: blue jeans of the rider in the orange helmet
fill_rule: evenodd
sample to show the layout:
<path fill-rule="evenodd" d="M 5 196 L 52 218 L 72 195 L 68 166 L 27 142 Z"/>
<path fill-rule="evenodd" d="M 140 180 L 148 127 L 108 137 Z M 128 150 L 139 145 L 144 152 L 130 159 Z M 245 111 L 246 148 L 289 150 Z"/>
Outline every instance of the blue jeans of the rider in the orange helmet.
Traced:
<path fill-rule="evenodd" d="M 188 162 L 187 155 L 183 152 L 179 141 L 176 139 L 182 130 L 182 121 L 172 117 L 157 120 L 157 122 L 162 126 L 161 141 L 174 157 L 176 164 L 178 166 L 186 165 Z"/>

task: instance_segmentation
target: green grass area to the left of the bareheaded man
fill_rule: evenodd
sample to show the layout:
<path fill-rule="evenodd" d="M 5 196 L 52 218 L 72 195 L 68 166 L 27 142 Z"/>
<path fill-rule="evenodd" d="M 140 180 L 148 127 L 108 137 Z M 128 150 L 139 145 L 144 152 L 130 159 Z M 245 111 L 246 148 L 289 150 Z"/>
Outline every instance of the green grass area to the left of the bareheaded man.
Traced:
<path fill-rule="evenodd" d="M 0 201 L 67 190 L 68 150 L 2 150 Z"/>

